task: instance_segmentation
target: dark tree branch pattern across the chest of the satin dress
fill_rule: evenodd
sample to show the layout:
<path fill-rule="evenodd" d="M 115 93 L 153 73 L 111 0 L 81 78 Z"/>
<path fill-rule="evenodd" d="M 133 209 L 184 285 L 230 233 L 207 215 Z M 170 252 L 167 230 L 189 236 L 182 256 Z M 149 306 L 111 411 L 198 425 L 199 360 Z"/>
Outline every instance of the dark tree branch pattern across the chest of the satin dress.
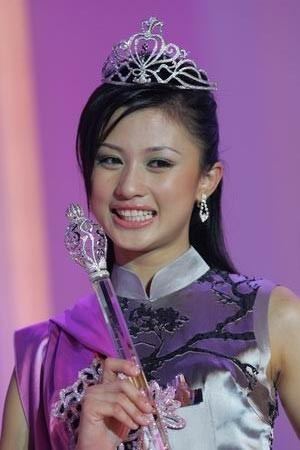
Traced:
<path fill-rule="evenodd" d="M 257 381 L 256 375 L 258 374 L 256 367 L 243 363 L 236 357 L 201 348 L 197 344 L 209 339 L 255 341 L 253 330 L 238 333 L 229 331 L 226 327 L 243 319 L 248 313 L 253 311 L 256 293 L 259 288 L 258 280 L 212 269 L 201 277 L 198 283 L 209 284 L 209 288 L 215 293 L 217 302 L 234 305 L 237 311 L 234 315 L 230 315 L 222 322 L 217 323 L 212 330 L 195 333 L 191 339 L 184 342 L 180 347 L 163 356 L 160 355 L 160 352 L 166 335 L 176 333 L 190 321 L 190 317 L 182 315 L 180 311 L 175 310 L 173 307 L 156 309 L 152 304 L 148 306 L 142 302 L 138 307 L 130 310 L 130 301 L 124 297 L 120 298 L 120 304 L 126 316 L 130 334 L 138 337 L 142 333 L 154 332 L 158 338 L 157 345 L 153 345 L 152 353 L 141 358 L 147 378 L 155 378 L 156 371 L 176 356 L 187 353 L 203 353 L 231 361 L 246 377 L 248 388 L 253 389 Z"/>

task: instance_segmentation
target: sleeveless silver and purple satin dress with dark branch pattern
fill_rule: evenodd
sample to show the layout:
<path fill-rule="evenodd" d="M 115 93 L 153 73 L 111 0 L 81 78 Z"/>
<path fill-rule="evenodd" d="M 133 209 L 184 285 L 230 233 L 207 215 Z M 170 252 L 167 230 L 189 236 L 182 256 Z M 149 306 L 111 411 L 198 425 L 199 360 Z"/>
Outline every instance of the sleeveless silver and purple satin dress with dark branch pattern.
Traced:
<path fill-rule="evenodd" d="M 124 267 L 114 267 L 112 282 L 148 380 L 167 386 L 182 374 L 195 393 L 178 410 L 185 428 L 168 430 L 172 449 L 271 449 L 274 284 L 211 269 L 193 248 L 154 276 L 149 295 Z"/>

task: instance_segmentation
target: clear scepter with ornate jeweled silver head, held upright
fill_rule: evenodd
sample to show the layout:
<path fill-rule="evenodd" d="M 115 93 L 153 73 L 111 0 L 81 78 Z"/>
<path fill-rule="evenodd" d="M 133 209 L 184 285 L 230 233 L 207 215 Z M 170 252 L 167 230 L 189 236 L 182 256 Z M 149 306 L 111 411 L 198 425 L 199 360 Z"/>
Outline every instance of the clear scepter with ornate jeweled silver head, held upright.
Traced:
<path fill-rule="evenodd" d="M 107 239 L 105 233 L 102 227 L 84 217 L 79 205 L 71 204 L 66 215 L 70 224 L 65 232 L 65 246 L 72 259 L 88 273 L 118 357 L 134 361 L 140 368 L 140 374 L 130 380 L 138 389 L 146 392 L 153 404 L 149 385 L 106 268 Z M 170 450 L 166 427 L 162 423 L 157 408 L 152 419 L 148 426 L 142 427 L 143 433 L 139 439 L 140 449 Z"/>

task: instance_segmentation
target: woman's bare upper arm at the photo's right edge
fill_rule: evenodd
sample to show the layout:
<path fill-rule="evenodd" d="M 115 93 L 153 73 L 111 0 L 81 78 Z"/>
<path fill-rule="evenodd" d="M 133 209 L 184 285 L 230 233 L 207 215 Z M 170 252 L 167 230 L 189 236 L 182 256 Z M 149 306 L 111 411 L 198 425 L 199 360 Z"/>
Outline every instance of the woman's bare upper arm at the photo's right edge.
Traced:
<path fill-rule="evenodd" d="M 272 292 L 269 330 L 271 376 L 300 438 L 300 302 L 289 289 L 276 287 Z"/>

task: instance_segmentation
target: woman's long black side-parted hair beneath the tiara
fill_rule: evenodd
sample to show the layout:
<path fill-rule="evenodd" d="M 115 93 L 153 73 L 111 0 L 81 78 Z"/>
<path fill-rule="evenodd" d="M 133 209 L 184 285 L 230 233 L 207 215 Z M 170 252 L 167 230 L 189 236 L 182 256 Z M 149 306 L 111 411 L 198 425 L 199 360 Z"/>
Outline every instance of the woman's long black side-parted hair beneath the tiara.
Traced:
<path fill-rule="evenodd" d="M 108 123 L 116 110 L 122 114 Z M 202 170 L 209 170 L 219 160 L 219 126 L 217 104 L 212 92 L 179 90 L 170 85 L 119 86 L 103 84 L 89 98 L 84 107 L 77 132 L 76 151 L 87 201 L 91 197 L 92 172 L 98 148 L 110 131 L 125 116 L 144 108 L 159 108 L 186 127 L 196 142 Z M 222 180 L 208 198 L 209 219 L 202 223 L 194 206 L 190 222 L 190 243 L 214 268 L 234 272 L 234 265 L 226 250 L 221 211 Z M 108 267 L 114 262 L 112 242 L 108 239 Z"/>

